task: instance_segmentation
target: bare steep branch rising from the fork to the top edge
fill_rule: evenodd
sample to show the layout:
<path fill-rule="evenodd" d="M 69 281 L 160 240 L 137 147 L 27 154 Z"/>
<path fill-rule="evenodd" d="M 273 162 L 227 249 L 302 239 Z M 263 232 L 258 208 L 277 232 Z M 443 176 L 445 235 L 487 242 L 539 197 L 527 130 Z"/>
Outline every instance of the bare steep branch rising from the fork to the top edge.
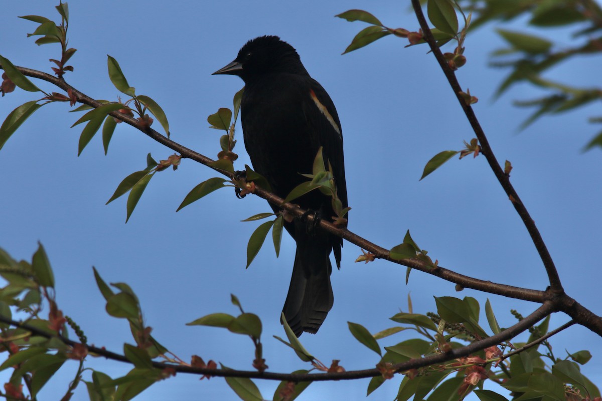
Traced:
<path fill-rule="evenodd" d="M 518 197 L 517 191 L 515 191 L 514 187 L 510 183 L 509 176 L 504 174 L 504 170 L 500 167 L 500 164 L 497 162 L 497 159 L 495 159 L 493 150 L 489 146 L 489 141 L 487 140 L 485 132 L 483 132 L 483 129 L 480 126 L 479 120 L 477 120 L 477 117 L 474 114 L 473 108 L 471 108 L 470 105 L 467 105 L 465 100 L 460 96 L 462 88 L 458 83 L 458 79 L 456 79 L 456 75 L 448 66 L 447 61 L 445 61 L 441 50 L 436 45 L 435 38 L 433 37 L 429 25 L 424 17 L 424 13 L 422 12 L 420 0 L 412 0 L 412 6 L 414 7 L 414 12 L 418 18 L 418 22 L 420 23 L 420 28 L 423 31 L 424 40 L 426 40 L 427 43 L 429 43 L 433 55 L 435 55 L 439 66 L 441 66 L 441 69 L 445 74 L 445 78 L 447 78 L 447 81 L 449 82 L 450 86 L 452 87 L 452 90 L 458 98 L 458 102 L 464 110 L 464 114 L 466 114 L 466 117 L 468 118 L 468 122 L 473 127 L 474 133 L 476 133 L 477 139 L 479 139 L 479 144 L 483 150 L 483 155 L 489 163 L 489 167 L 491 167 L 491 170 L 495 174 L 495 177 L 497 178 L 498 182 L 500 182 L 500 185 L 502 186 L 504 191 L 506 191 L 508 198 L 512 200 L 514 209 L 517 210 L 518 215 L 523 220 L 523 224 L 527 228 L 527 231 L 529 231 L 529 235 L 531 236 L 533 244 L 535 245 L 535 248 L 539 253 L 539 257 L 541 257 L 541 260 L 544 263 L 545 271 L 547 272 L 548 280 L 550 281 L 551 291 L 553 293 L 563 293 L 564 291 L 562 289 L 562 283 L 560 283 L 558 271 L 556 270 L 556 266 L 554 266 L 554 262 L 552 260 L 552 257 L 550 256 L 550 253 L 548 252 L 547 246 L 545 246 L 544 239 L 542 238 L 541 233 L 539 233 L 539 230 L 535 225 L 535 221 L 533 221 L 533 219 L 529 215 L 527 208 L 524 206 L 520 197 Z"/>

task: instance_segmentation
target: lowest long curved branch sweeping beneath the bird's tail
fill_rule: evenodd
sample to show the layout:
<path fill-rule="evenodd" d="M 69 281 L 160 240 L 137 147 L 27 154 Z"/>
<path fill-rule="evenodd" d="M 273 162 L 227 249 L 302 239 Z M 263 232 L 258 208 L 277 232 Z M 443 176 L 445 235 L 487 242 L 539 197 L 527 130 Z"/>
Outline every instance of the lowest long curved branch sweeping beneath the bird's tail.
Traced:
<path fill-rule="evenodd" d="M 488 347 L 496 346 L 497 344 L 508 341 L 511 338 L 516 337 L 523 331 L 526 331 L 529 327 L 535 325 L 539 320 L 544 319 L 548 314 L 553 313 L 556 308 L 550 301 L 544 302 L 539 308 L 537 308 L 529 316 L 523 320 L 510 326 L 509 328 L 499 332 L 491 337 L 483 338 L 483 340 L 474 341 L 474 343 L 468 344 L 467 346 L 452 349 L 449 352 L 442 354 L 430 355 L 420 359 L 409 360 L 404 363 L 396 364 L 393 366 L 395 372 L 405 372 L 409 369 L 418 369 L 420 367 L 430 366 L 433 364 L 444 363 L 452 361 L 458 358 L 467 357 L 474 352 L 483 350 Z M 62 343 L 69 346 L 80 344 L 77 341 L 69 340 L 61 335 L 50 334 L 40 328 L 27 325 L 25 323 L 17 322 L 16 320 L 9 319 L 8 317 L 0 315 L 0 322 L 8 323 L 9 325 L 17 328 L 25 329 L 31 334 L 39 335 L 45 338 L 58 338 Z M 120 361 L 125 363 L 131 363 L 126 357 L 115 352 L 106 350 L 104 347 L 95 347 L 84 345 L 88 352 L 93 354 L 101 355 L 110 360 Z M 305 373 L 303 375 L 293 373 L 273 373 L 273 372 L 256 372 L 250 370 L 225 370 L 225 369 L 207 369 L 192 366 L 175 365 L 171 363 L 163 363 L 152 361 L 152 365 L 157 369 L 173 369 L 175 372 L 180 373 L 191 373 L 194 375 L 207 375 L 217 377 L 236 377 L 236 378 L 250 378 L 250 379 L 265 379 L 265 380 L 279 380 L 279 381 L 291 381 L 291 382 L 315 382 L 315 381 L 334 381 L 334 380 L 353 380 L 362 378 L 372 378 L 374 376 L 380 376 L 382 373 L 378 369 L 364 369 L 364 370 L 350 370 L 349 372 L 332 372 L 332 373 Z"/>

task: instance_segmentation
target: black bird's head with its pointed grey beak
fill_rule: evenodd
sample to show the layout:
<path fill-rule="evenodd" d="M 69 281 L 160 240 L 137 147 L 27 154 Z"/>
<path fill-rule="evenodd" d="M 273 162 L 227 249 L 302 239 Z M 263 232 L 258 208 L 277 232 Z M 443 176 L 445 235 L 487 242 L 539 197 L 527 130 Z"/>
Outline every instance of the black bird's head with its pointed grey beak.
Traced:
<path fill-rule="evenodd" d="M 238 75 L 246 83 L 258 76 L 276 72 L 308 75 L 293 46 L 278 36 L 260 36 L 247 41 L 232 63 L 212 75 Z"/>

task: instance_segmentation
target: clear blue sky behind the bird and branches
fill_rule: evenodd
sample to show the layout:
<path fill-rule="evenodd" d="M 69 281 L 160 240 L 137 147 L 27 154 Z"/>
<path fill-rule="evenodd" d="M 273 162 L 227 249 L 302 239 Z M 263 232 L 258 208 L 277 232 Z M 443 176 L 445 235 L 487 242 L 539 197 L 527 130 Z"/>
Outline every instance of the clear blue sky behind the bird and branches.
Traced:
<path fill-rule="evenodd" d="M 26 33 L 35 24 L 16 16 L 38 14 L 55 18 L 54 2 L 7 2 L 2 7 L 0 54 L 14 64 L 50 71 L 49 58 L 58 46 L 34 44 Z M 234 59 L 250 38 L 276 34 L 296 47 L 309 73 L 334 100 L 343 126 L 349 192 L 349 229 L 385 248 L 402 242 L 406 230 L 442 266 L 484 280 L 545 289 L 547 277 L 526 229 L 514 212 L 483 157 L 453 159 L 418 182 L 424 164 L 442 150 L 459 150 L 474 137 L 455 96 L 423 46 L 405 49 L 406 41 L 386 37 L 351 54 L 341 55 L 365 24 L 334 18 L 350 8 L 365 8 L 383 23 L 418 28 L 409 5 L 391 2 L 281 1 L 72 1 L 70 46 L 75 72 L 67 82 L 97 99 L 119 95 L 108 79 L 107 54 L 116 58 L 138 94 L 163 107 L 172 139 L 215 158 L 219 135 L 208 129 L 206 116 L 231 107 L 243 83 L 211 73 Z M 518 23 L 516 26 L 520 26 Z M 549 31 L 569 44 L 564 31 Z M 517 85 L 497 101 L 493 93 L 506 72 L 487 67 L 488 55 L 503 46 L 490 27 L 469 35 L 468 63 L 458 71 L 462 87 L 479 97 L 475 111 L 498 160 L 512 162 L 512 183 L 541 230 L 559 269 L 566 291 L 600 314 L 598 249 L 602 216 L 598 212 L 600 150 L 582 153 L 595 133 L 586 123 L 597 110 L 542 118 L 518 133 L 529 111 L 512 106 L 513 99 L 542 96 L 540 90 Z M 600 60 L 582 57 L 550 71 L 550 78 L 576 86 L 594 82 Z M 40 87 L 52 91 L 49 85 Z M 0 100 L 2 118 L 16 106 L 34 99 L 17 90 Z M 256 197 L 238 200 L 223 189 L 178 213 L 191 188 L 216 176 L 194 162 L 182 161 L 178 171 L 157 174 L 128 224 L 125 198 L 105 206 L 119 182 L 146 167 L 146 154 L 166 159 L 169 149 L 122 124 L 117 127 L 108 156 L 100 134 L 77 157 L 81 126 L 69 127 L 78 116 L 67 105 L 40 109 L 10 138 L 0 152 L 0 246 L 17 259 L 30 259 L 41 241 L 54 268 L 57 301 L 64 313 L 84 329 L 90 343 L 119 352 L 132 342 L 125 321 L 109 317 L 96 288 L 92 266 L 106 281 L 130 284 L 155 337 L 184 360 L 197 354 L 226 366 L 252 369 L 249 339 L 217 328 L 184 324 L 214 312 L 237 313 L 234 293 L 246 311 L 264 325 L 264 354 L 270 370 L 306 369 L 293 352 L 273 339 L 283 336 L 279 314 L 290 281 L 294 242 L 285 237 L 279 259 L 265 246 L 249 269 L 246 244 L 256 222 L 240 222 L 270 210 Z M 283 133 L 284 135 L 284 133 Z M 237 166 L 249 163 L 242 135 L 235 151 Z M 346 243 L 340 271 L 332 274 L 335 304 L 317 335 L 304 334 L 303 344 L 329 364 L 340 359 L 347 370 L 367 369 L 377 356 L 347 330 L 347 321 L 371 332 L 394 324 L 389 317 L 407 310 L 434 311 L 435 296 L 489 298 L 501 326 L 515 322 L 510 308 L 524 315 L 535 304 L 472 290 L 456 293 L 454 285 L 421 272 L 412 272 L 405 285 L 405 268 L 376 261 L 353 263 L 360 249 Z M 485 321 L 485 317 L 482 317 Z M 568 321 L 557 314 L 551 328 Z M 485 323 L 486 326 L 486 323 Z M 380 341 L 392 345 L 407 337 Z M 594 358 L 583 372 L 602 382 L 600 338 L 574 327 L 553 338 L 556 355 L 564 349 L 590 349 Z M 90 366 L 112 377 L 129 370 L 104 360 Z M 75 374 L 64 366 L 41 398 L 63 394 Z M 400 377 L 387 382 L 371 399 L 393 399 Z M 277 382 L 258 382 L 271 399 Z M 315 383 L 300 399 L 364 399 L 368 380 Z M 79 388 L 74 399 L 85 399 Z M 178 375 L 141 394 L 141 400 L 235 399 L 221 379 L 199 382 Z M 476 397 L 475 397 L 476 398 Z"/>

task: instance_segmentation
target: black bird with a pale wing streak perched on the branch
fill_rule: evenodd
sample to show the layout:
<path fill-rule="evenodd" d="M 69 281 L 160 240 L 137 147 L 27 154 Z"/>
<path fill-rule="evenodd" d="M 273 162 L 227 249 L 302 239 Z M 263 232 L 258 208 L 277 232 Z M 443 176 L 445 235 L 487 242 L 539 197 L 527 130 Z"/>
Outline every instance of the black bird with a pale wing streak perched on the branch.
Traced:
<path fill-rule="evenodd" d="M 214 74 L 237 75 L 244 81 L 241 122 L 244 145 L 253 168 L 264 176 L 275 194 L 284 198 L 308 180 L 318 149 L 332 164 L 338 197 L 347 206 L 343 164 L 343 136 L 335 105 L 309 76 L 299 55 L 277 36 L 248 41 L 232 63 Z M 327 167 L 326 162 L 326 167 Z M 331 199 L 312 191 L 293 201 L 330 221 Z M 277 206 L 272 206 L 275 212 Z M 308 230 L 295 219 L 285 228 L 297 242 L 293 276 L 284 304 L 284 316 L 294 333 L 315 333 L 332 308 L 330 251 L 341 267 L 343 241 L 323 230 Z"/>

